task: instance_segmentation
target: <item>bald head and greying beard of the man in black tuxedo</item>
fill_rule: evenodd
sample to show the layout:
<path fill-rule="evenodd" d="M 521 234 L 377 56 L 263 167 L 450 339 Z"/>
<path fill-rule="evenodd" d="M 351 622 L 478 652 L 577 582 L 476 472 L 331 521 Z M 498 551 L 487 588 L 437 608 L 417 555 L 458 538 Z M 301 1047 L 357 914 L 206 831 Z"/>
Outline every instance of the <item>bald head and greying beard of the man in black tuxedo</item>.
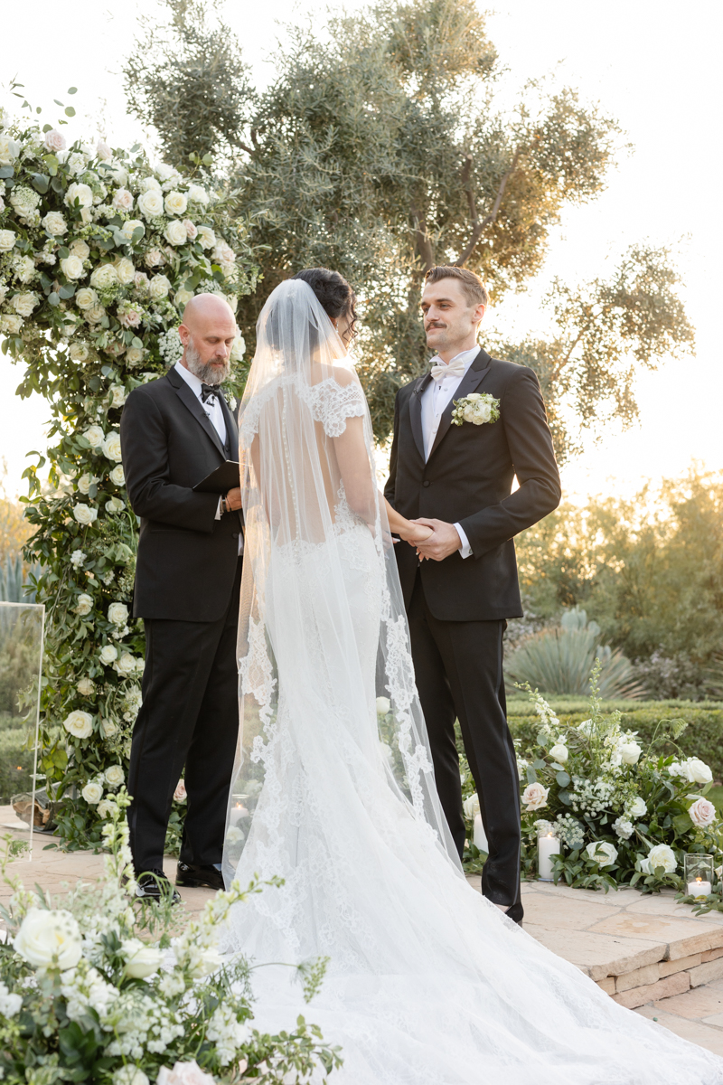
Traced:
<path fill-rule="evenodd" d="M 233 309 L 218 294 L 195 294 L 183 310 L 178 333 L 182 365 L 206 384 L 221 384 L 231 372 L 231 347 L 238 334 Z"/>

